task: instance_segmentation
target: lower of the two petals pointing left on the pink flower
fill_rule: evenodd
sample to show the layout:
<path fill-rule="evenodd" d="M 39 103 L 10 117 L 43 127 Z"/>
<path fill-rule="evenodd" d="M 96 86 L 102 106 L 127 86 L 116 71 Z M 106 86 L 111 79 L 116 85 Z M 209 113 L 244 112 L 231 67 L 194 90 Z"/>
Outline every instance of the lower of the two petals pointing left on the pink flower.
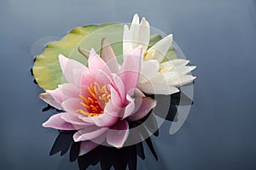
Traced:
<path fill-rule="evenodd" d="M 81 128 L 81 126 L 74 126 L 73 124 L 64 121 L 61 116 L 63 113 L 55 114 L 50 116 L 48 121 L 43 123 L 43 127 L 52 127 L 61 130 L 76 130 Z"/>

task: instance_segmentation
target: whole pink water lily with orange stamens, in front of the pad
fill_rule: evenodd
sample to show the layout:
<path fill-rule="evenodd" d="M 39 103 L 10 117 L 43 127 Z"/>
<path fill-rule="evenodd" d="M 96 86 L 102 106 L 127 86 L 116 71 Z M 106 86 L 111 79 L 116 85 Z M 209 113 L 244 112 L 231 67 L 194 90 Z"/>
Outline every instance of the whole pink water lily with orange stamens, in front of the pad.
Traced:
<path fill-rule="evenodd" d="M 43 126 L 77 130 L 73 139 L 82 141 L 80 156 L 105 139 L 108 144 L 122 147 L 129 134 L 128 122 L 143 118 L 156 105 L 154 99 L 145 97 L 136 88 L 141 47 L 125 55 L 122 65 L 118 64 L 107 42 L 101 55 L 102 58 L 92 48 L 86 67 L 60 54 L 61 70 L 67 83 L 39 95 L 49 105 L 65 111 L 49 117 Z"/>

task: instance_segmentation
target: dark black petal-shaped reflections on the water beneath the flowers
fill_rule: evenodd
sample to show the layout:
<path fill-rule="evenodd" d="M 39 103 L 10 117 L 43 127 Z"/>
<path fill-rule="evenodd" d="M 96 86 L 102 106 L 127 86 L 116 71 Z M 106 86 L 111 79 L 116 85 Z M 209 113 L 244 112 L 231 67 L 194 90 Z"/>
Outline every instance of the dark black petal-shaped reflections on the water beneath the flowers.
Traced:
<path fill-rule="evenodd" d="M 182 101 L 181 98 L 183 98 Z M 143 123 L 143 126 L 139 128 L 137 133 L 132 133 L 129 135 L 129 138 L 131 139 L 135 139 L 137 138 L 137 136 L 143 137 L 142 142 L 125 146 L 120 149 L 108 146 L 105 142 L 105 144 L 98 145 L 95 149 L 90 150 L 83 156 L 79 156 L 80 142 L 73 141 L 73 134 L 77 131 L 59 130 L 59 134 L 55 139 L 54 144 L 52 145 L 49 156 L 53 156 L 57 153 L 60 153 L 61 156 L 64 156 L 69 150 L 69 161 L 78 161 L 80 170 L 87 169 L 90 166 L 95 166 L 98 163 L 103 170 L 108 170 L 111 167 L 114 167 L 114 169 L 116 170 L 126 169 L 127 167 L 130 170 L 136 170 L 137 157 L 140 157 L 142 160 L 146 159 L 144 152 L 144 145 L 146 144 L 147 148 L 154 156 L 155 161 L 158 161 L 157 151 L 154 150 L 152 140 L 150 139 L 150 137 L 148 137 L 150 136 L 148 132 L 153 133 L 156 137 L 159 136 L 156 116 L 159 116 L 169 122 L 176 122 L 177 105 L 193 105 L 193 101 L 182 93 L 164 95 L 164 99 L 170 101 L 170 106 L 167 114 L 163 115 L 161 110 L 163 105 L 166 105 L 166 103 L 160 102 L 160 104 L 162 105 L 157 105 L 154 113 L 151 111 L 148 116 L 143 117 L 137 122 L 130 123 L 130 128 L 138 127 Z M 49 111 L 52 109 L 54 108 L 48 105 L 43 111 Z M 147 124 L 146 120 L 149 124 Z"/>

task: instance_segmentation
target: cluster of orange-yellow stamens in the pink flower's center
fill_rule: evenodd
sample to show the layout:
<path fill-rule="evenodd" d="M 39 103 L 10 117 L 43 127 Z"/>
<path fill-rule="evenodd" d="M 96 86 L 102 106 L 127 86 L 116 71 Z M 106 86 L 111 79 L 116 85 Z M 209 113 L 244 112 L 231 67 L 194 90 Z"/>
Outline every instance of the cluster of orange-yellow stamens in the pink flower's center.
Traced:
<path fill-rule="evenodd" d="M 100 86 L 99 83 L 94 82 L 87 87 L 86 95 L 80 94 L 79 97 L 83 99 L 80 102 L 84 109 L 77 110 L 78 113 L 84 116 L 99 116 L 104 112 L 104 108 L 110 100 L 110 92 L 106 85 Z"/>

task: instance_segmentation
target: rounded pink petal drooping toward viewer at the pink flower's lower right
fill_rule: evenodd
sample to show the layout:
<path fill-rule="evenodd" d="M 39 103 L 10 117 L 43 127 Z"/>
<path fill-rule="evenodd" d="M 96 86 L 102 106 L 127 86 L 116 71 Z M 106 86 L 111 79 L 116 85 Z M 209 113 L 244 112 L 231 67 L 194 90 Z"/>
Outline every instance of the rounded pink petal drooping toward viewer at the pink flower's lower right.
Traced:
<path fill-rule="evenodd" d="M 128 122 L 119 121 L 107 133 L 108 144 L 113 145 L 116 148 L 121 148 L 125 144 L 129 134 L 129 124 Z"/>

